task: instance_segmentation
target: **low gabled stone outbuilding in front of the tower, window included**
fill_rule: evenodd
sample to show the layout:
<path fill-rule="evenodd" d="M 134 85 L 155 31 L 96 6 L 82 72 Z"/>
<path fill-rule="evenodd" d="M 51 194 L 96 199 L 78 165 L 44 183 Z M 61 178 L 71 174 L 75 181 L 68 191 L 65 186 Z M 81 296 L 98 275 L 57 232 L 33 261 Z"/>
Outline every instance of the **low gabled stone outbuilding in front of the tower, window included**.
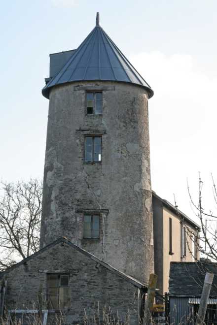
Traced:
<path fill-rule="evenodd" d="M 130 318 L 130 324 L 138 324 L 144 309 L 145 284 L 66 238 L 2 272 L 1 283 L 1 305 L 4 299 L 11 317 L 14 310 L 16 318 L 38 310 L 44 324 L 60 317 L 66 324 L 83 324 L 85 318 L 93 324 L 99 314 L 101 320 L 118 315 L 120 321 Z"/>

